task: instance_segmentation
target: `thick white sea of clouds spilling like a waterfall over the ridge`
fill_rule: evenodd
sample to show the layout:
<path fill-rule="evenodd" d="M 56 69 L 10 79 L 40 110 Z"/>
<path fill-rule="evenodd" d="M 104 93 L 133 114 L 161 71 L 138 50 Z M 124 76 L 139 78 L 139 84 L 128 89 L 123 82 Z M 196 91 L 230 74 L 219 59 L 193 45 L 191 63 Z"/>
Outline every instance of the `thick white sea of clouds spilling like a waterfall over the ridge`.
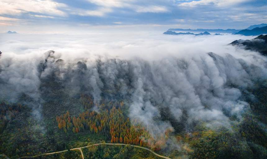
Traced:
<path fill-rule="evenodd" d="M 186 125 L 203 121 L 230 127 L 229 115 L 241 118 L 249 109 L 242 92 L 267 78 L 265 56 L 228 45 L 252 38 L 159 32 L 2 34 L 0 99 L 16 102 L 25 93 L 42 116 L 40 81 L 53 75 L 73 94 L 88 90 L 95 102 L 103 90 L 115 90 L 109 97 L 128 99 L 131 121 L 142 122 L 154 136 L 173 129 L 160 120 L 162 109 L 177 122 L 185 113 Z"/>

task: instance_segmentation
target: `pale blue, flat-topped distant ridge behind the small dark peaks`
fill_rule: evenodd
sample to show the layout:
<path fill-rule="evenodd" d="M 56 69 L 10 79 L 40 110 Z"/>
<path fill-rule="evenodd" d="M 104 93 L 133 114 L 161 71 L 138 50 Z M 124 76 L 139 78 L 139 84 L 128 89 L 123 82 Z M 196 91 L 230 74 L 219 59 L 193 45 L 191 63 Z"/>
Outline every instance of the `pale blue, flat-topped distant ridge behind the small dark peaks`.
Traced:
<path fill-rule="evenodd" d="M 236 29 L 168 29 L 168 31 L 180 31 L 180 32 L 216 32 L 216 33 L 236 33 L 241 30 Z"/>

